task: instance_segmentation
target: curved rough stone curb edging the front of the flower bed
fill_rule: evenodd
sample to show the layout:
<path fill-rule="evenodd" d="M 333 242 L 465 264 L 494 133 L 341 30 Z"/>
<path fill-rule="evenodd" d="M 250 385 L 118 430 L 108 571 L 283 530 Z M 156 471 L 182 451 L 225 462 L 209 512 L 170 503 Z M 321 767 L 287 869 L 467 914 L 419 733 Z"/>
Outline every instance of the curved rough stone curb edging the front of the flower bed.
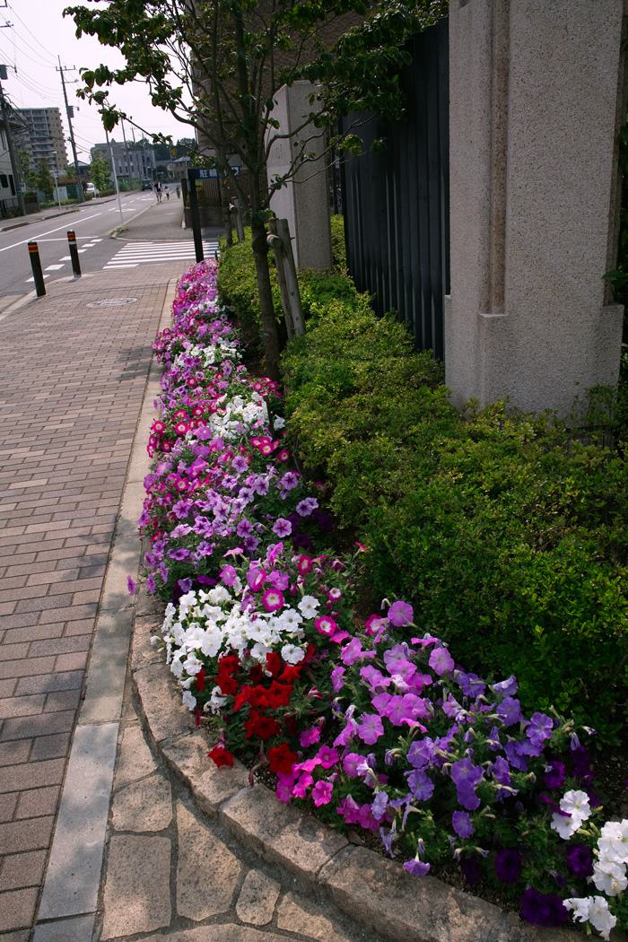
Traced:
<path fill-rule="evenodd" d="M 131 672 L 143 722 L 169 769 L 190 789 L 199 809 L 218 817 L 245 847 L 280 864 L 305 885 L 323 890 L 351 918 L 391 942 L 577 942 L 582 934 L 522 922 L 433 877 L 417 879 L 398 863 L 348 844 L 266 786 L 249 785 L 235 762 L 217 769 L 209 739 L 183 704 L 163 654 L 151 644 L 163 609 L 138 592 Z"/>

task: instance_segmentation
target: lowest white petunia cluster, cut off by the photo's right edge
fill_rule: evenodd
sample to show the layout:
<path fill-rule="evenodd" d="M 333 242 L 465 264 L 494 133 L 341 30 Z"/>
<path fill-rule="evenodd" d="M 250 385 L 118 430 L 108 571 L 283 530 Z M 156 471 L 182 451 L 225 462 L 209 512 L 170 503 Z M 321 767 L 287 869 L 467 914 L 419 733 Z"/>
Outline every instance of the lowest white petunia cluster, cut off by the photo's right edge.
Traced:
<path fill-rule="evenodd" d="M 596 853 L 598 859 L 589 881 L 606 896 L 619 896 L 628 885 L 628 820 L 606 821 Z M 617 925 L 617 918 L 610 912 L 603 896 L 572 897 L 564 902 L 568 909 L 573 910 L 574 919 L 590 922 L 604 939 L 608 939 L 611 929 Z"/>

